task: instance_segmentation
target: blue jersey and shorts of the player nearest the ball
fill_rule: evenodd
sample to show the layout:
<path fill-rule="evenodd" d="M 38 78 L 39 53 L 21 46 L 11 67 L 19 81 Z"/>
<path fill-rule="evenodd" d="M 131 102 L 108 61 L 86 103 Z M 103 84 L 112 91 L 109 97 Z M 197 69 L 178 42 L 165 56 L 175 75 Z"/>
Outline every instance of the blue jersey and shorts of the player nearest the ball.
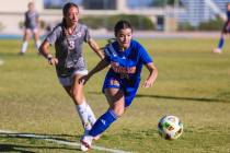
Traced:
<path fill-rule="evenodd" d="M 152 62 L 151 57 L 133 39 L 126 50 L 120 50 L 117 42 L 107 45 L 105 59 L 111 63 L 111 68 L 105 76 L 103 92 L 108 87 L 122 89 L 125 96 L 133 95 L 128 102 L 130 104 L 139 86 L 142 66 Z"/>

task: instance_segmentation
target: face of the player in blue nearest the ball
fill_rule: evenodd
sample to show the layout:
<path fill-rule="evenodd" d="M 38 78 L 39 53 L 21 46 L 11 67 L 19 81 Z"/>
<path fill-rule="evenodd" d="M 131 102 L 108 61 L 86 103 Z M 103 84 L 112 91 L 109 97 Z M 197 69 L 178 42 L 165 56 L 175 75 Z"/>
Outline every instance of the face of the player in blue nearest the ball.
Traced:
<path fill-rule="evenodd" d="M 130 45 L 131 37 L 133 37 L 131 28 L 120 30 L 116 35 L 116 39 L 119 44 L 119 47 L 123 49 L 127 49 Z"/>

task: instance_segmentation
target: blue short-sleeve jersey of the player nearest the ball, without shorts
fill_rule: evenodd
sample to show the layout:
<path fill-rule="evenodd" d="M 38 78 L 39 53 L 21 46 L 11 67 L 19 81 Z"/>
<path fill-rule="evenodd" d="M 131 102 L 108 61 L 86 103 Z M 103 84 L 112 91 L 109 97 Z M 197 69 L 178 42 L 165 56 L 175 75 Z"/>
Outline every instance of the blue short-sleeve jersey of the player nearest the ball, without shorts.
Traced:
<path fill-rule="evenodd" d="M 105 48 L 105 58 L 111 63 L 108 73 L 126 74 L 130 79 L 140 79 L 142 64 L 152 62 L 147 50 L 136 40 L 130 42 L 126 50 L 120 50 L 114 42 Z"/>

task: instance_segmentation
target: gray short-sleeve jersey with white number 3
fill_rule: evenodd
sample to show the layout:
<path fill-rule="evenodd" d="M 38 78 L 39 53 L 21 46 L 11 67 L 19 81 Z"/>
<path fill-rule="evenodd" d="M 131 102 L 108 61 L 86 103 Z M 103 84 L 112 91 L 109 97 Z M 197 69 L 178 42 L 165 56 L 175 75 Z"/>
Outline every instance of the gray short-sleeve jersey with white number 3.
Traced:
<path fill-rule="evenodd" d="M 87 70 L 82 56 L 82 44 L 91 38 L 89 30 L 83 24 L 78 24 L 72 35 L 65 35 L 62 24 L 58 24 L 46 37 L 46 40 L 56 49 L 56 66 L 58 76 L 69 76 L 74 70 Z"/>

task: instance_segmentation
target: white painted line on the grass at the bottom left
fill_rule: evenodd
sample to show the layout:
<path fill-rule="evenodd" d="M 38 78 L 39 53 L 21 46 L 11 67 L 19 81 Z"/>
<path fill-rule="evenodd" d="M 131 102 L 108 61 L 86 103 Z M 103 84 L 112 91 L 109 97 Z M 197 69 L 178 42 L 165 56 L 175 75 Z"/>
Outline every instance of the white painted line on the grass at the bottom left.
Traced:
<path fill-rule="evenodd" d="M 64 141 L 64 140 L 56 140 L 55 138 L 50 138 L 48 136 L 41 136 L 41 134 L 25 134 L 25 133 L 19 133 L 19 132 L 13 132 L 13 131 L 8 131 L 8 130 L 0 130 L 0 133 L 3 134 L 13 134 L 16 137 L 24 137 L 24 138 L 37 138 L 37 139 L 43 139 L 45 141 L 49 141 L 49 142 L 55 142 L 58 144 L 66 144 L 66 145 L 71 145 L 71 146 L 80 146 L 80 143 L 77 142 L 69 142 L 69 141 Z M 94 150 L 99 150 L 99 151 L 107 151 L 111 153 L 130 153 L 130 152 L 126 152 L 126 151 L 122 151 L 122 150 L 114 150 L 114 149 L 106 149 L 103 146 L 96 146 L 96 145 L 92 145 L 92 149 Z"/>

